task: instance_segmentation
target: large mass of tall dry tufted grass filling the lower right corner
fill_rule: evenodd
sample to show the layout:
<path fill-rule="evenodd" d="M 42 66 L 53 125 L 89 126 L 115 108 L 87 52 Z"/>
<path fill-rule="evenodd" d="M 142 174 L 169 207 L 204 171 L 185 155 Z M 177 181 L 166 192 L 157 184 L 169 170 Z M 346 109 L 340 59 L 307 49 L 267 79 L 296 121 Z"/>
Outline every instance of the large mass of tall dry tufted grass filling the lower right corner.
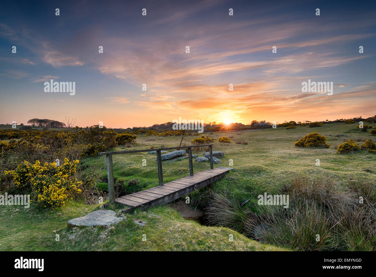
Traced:
<path fill-rule="evenodd" d="M 345 189 L 330 175 L 298 176 L 285 186 L 284 194 L 290 196 L 288 209 L 258 209 L 257 218 L 246 222 L 249 235 L 264 224 L 268 229 L 261 236 L 263 241 L 294 250 L 376 250 L 372 184 Z"/>

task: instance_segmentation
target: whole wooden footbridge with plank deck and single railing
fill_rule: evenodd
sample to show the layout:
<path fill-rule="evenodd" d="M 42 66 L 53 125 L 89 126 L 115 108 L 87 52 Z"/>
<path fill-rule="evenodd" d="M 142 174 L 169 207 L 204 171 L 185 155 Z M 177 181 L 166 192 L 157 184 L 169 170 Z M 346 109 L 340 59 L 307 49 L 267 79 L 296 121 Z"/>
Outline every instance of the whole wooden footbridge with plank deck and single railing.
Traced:
<path fill-rule="evenodd" d="M 193 161 L 192 161 L 192 148 L 195 147 L 209 147 L 210 155 L 210 169 L 193 174 Z M 114 151 L 114 152 L 100 152 L 98 155 L 106 155 L 107 159 L 107 180 L 108 180 L 108 195 L 109 202 L 116 202 L 123 204 L 128 208 L 123 210 L 123 212 L 129 212 L 133 208 L 141 208 L 146 210 L 155 205 L 164 205 L 171 201 L 174 201 L 188 193 L 191 193 L 197 189 L 212 184 L 215 181 L 223 178 L 229 169 L 220 169 L 213 167 L 213 154 L 212 154 L 212 144 L 207 145 L 191 145 L 191 146 L 180 146 L 180 147 L 169 147 L 169 148 L 158 148 L 158 149 L 142 149 L 142 150 L 130 150 L 130 151 Z M 190 176 L 183 177 L 181 179 L 171 181 L 168 183 L 163 183 L 162 174 L 162 150 L 180 149 L 188 148 L 188 163 L 190 168 Z M 157 166 L 158 166 L 158 180 L 159 186 L 151 187 L 150 189 L 141 190 L 129 195 L 124 195 L 115 199 L 115 189 L 114 189 L 114 173 L 112 168 L 112 155 L 114 154 L 128 154 L 137 152 L 149 152 L 156 151 L 157 154 Z"/>

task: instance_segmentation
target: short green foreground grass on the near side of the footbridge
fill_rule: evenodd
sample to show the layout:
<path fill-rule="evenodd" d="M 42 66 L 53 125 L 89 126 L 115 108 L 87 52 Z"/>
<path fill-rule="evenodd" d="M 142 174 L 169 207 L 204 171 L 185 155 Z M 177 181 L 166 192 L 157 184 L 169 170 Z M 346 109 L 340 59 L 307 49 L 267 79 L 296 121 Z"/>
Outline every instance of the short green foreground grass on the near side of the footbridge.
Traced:
<path fill-rule="evenodd" d="M 187 221 L 170 207 L 153 207 L 147 212 L 135 210 L 121 215 L 119 206 L 112 205 L 124 219 L 118 225 L 68 229 L 67 221 L 84 216 L 99 205 L 68 203 L 55 210 L 2 206 L 0 213 L 1 251 L 281 251 L 283 248 L 264 245 L 223 227 L 206 227 Z M 144 227 L 133 220 L 146 222 Z M 56 233 L 54 232 L 56 231 Z M 59 241 L 56 241 L 59 234 Z M 146 241 L 143 241 L 143 235 Z M 229 235 L 233 241 L 229 241 Z"/>

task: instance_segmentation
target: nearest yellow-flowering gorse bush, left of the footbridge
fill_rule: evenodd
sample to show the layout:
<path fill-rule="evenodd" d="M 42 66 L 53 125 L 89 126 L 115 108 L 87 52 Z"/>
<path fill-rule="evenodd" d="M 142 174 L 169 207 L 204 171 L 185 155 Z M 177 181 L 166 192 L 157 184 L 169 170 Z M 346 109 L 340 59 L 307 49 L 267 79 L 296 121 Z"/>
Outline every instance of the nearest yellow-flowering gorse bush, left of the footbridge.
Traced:
<path fill-rule="evenodd" d="M 24 161 L 15 170 L 5 171 L 0 180 L 0 191 L 13 194 L 30 194 L 32 202 L 44 207 L 60 207 L 73 199 L 74 194 L 81 193 L 82 182 L 73 177 L 76 174 L 78 160 L 64 164 L 35 164 Z"/>

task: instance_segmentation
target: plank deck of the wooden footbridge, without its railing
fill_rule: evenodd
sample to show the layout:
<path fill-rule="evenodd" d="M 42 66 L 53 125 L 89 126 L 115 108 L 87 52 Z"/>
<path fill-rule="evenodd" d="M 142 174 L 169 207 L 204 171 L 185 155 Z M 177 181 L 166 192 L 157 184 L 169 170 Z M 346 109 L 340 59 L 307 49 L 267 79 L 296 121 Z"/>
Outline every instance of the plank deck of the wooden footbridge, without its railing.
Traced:
<path fill-rule="evenodd" d="M 187 176 L 163 184 L 163 186 L 151 187 L 129 195 L 115 199 L 115 202 L 130 208 L 146 210 L 155 205 L 164 205 L 178 199 L 188 193 L 201 189 L 223 178 L 229 169 L 215 168 L 197 172 L 193 176 Z"/>

